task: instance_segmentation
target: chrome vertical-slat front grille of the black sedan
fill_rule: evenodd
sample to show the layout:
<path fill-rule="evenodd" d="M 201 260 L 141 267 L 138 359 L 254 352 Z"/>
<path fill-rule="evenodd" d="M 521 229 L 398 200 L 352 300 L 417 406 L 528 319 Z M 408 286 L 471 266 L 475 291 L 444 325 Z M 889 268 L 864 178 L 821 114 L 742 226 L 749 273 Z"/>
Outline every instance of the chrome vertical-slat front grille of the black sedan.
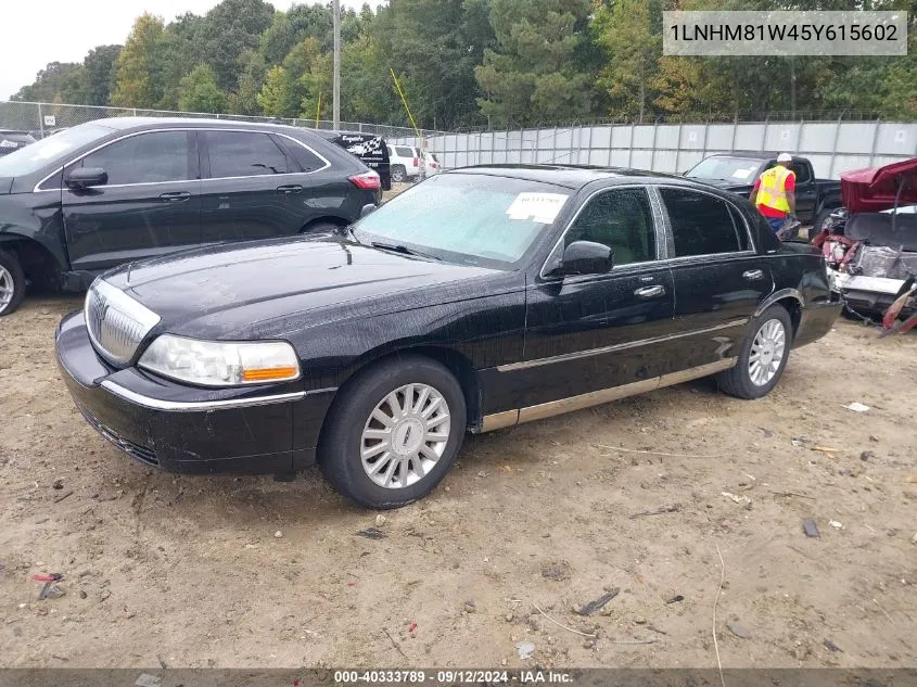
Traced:
<path fill-rule="evenodd" d="M 137 347 L 158 321 L 158 315 L 101 279 L 86 294 L 89 338 L 99 354 L 113 365 L 130 362 Z"/>

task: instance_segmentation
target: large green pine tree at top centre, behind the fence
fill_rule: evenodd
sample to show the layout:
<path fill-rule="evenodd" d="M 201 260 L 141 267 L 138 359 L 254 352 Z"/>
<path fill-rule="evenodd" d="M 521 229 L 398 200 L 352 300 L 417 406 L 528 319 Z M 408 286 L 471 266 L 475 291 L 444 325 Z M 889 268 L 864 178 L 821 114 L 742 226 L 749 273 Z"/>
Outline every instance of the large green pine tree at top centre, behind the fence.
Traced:
<path fill-rule="evenodd" d="M 588 115 L 593 78 L 580 68 L 590 0 L 493 0 L 498 46 L 475 69 L 481 112 L 501 126 Z"/>

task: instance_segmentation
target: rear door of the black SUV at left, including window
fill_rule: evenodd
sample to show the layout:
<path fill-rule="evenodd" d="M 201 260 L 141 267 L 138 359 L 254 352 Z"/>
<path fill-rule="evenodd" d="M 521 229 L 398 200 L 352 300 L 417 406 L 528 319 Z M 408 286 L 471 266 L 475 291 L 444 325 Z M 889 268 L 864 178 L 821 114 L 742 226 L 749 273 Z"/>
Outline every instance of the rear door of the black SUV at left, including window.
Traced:
<path fill-rule="evenodd" d="M 297 233 L 309 219 L 306 175 L 270 133 L 201 131 L 204 243 Z"/>

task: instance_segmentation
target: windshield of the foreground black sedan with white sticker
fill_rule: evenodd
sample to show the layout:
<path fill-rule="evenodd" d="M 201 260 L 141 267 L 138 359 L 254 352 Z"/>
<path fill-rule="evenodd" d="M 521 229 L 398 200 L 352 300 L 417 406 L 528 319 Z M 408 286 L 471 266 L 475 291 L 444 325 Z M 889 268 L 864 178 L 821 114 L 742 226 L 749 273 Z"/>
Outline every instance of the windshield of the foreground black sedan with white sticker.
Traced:
<path fill-rule="evenodd" d="M 523 179 L 437 175 L 364 217 L 354 234 L 364 243 L 404 246 L 446 262 L 511 269 L 570 194 Z"/>

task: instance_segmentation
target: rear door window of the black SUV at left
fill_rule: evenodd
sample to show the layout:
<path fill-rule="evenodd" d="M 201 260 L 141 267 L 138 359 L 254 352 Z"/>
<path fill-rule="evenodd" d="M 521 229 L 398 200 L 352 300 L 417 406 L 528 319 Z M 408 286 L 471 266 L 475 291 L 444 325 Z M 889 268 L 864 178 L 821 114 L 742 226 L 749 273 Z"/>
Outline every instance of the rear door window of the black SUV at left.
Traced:
<path fill-rule="evenodd" d="M 286 174 L 286 156 L 267 133 L 207 131 L 211 178 Z"/>

